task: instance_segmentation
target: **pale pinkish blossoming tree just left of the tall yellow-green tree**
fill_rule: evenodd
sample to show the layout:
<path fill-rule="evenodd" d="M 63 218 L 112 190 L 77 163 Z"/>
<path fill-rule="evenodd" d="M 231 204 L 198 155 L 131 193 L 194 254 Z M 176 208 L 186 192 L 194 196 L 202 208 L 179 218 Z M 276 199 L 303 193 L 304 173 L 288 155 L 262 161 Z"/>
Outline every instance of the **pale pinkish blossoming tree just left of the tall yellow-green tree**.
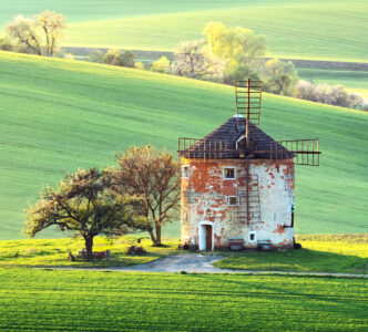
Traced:
<path fill-rule="evenodd" d="M 204 45 L 204 40 L 181 42 L 174 54 L 174 72 L 180 76 L 221 80 L 224 75 L 224 61 Z"/>

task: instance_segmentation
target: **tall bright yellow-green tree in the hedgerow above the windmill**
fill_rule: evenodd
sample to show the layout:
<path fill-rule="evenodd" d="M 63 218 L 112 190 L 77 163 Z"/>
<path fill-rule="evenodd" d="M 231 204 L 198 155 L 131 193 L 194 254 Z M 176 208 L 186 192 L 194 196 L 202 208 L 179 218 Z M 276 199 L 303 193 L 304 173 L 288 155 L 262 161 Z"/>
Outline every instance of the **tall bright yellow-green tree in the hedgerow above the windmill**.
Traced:
<path fill-rule="evenodd" d="M 226 28 L 222 22 L 208 22 L 203 30 L 206 49 L 226 63 L 225 81 L 254 76 L 260 58 L 267 53 L 267 40 L 249 29 Z M 247 76 L 244 76 L 244 72 Z"/>

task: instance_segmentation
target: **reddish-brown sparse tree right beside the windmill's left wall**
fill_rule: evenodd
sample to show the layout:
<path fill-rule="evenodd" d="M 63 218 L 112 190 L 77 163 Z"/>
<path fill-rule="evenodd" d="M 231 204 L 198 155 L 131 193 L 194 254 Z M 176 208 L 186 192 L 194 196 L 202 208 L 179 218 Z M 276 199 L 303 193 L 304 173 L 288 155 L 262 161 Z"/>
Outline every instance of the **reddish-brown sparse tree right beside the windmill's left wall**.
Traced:
<path fill-rule="evenodd" d="M 151 145 L 132 147 L 116 155 L 115 189 L 142 198 L 140 214 L 150 220 L 149 232 L 162 246 L 162 226 L 171 221 L 180 201 L 180 167 L 165 151 Z"/>

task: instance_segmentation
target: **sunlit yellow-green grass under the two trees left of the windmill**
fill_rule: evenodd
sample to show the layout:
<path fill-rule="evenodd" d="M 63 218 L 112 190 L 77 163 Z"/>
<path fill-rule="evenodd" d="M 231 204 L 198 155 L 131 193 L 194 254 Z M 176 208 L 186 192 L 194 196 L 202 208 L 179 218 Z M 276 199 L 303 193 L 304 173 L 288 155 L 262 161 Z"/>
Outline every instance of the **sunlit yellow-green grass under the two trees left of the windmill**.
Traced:
<path fill-rule="evenodd" d="M 178 240 L 165 241 L 165 247 L 153 247 L 151 240 L 137 237 L 123 237 L 108 240 L 103 237 L 94 239 L 93 251 L 111 250 L 110 260 L 95 260 L 86 262 L 76 257 L 78 250 L 84 248 L 83 239 L 30 239 L 0 241 L 0 267 L 70 267 L 70 268 L 109 268 L 124 267 L 144 263 L 163 256 L 180 253 Z M 147 253 L 142 256 L 129 256 L 126 250 L 131 246 L 143 246 Z M 75 257 L 75 261 L 68 260 L 69 250 Z"/>

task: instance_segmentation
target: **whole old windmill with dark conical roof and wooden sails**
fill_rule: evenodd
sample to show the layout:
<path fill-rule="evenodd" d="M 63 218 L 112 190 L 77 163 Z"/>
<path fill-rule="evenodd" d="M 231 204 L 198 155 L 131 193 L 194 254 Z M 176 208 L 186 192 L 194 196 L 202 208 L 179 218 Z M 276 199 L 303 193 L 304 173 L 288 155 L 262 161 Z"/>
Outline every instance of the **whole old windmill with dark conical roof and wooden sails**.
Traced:
<path fill-rule="evenodd" d="M 294 246 L 294 165 L 319 166 L 319 139 L 259 129 L 260 81 L 235 83 L 236 115 L 203 139 L 178 138 L 182 246 Z"/>

